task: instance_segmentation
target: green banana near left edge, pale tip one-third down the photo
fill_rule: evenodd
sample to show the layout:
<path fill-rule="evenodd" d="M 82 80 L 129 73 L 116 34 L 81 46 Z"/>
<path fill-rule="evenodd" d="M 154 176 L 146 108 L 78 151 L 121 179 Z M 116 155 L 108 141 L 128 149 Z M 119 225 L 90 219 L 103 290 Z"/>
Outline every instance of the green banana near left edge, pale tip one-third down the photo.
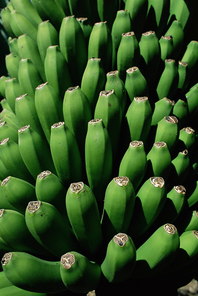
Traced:
<path fill-rule="evenodd" d="M 20 120 L 20 126 L 30 124 L 34 131 L 44 137 L 44 132 L 41 128 L 41 124 L 36 113 L 35 103 L 31 96 L 24 94 L 16 98 L 15 112 L 17 118 Z"/>

